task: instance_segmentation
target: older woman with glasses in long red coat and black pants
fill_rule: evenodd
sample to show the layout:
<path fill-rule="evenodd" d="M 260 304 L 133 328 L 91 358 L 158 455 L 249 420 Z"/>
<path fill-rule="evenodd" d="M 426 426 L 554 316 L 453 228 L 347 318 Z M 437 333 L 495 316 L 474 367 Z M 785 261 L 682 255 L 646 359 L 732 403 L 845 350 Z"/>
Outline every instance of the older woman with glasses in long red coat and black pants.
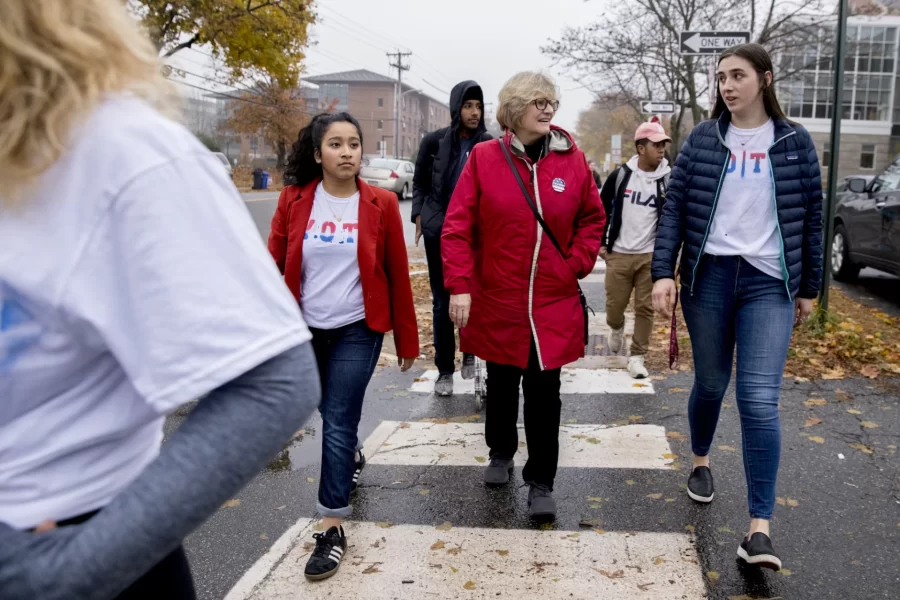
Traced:
<path fill-rule="evenodd" d="M 530 485 L 529 512 L 539 520 L 556 516 L 560 370 L 584 356 L 578 280 L 594 268 L 606 221 L 584 153 L 550 124 L 557 108 L 556 85 L 543 74 L 520 73 L 506 83 L 497 119 L 507 134 L 472 151 L 442 235 L 461 349 L 487 361 L 485 483 L 506 484 L 512 473 L 521 383 L 528 443 L 522 477 Z"/>

